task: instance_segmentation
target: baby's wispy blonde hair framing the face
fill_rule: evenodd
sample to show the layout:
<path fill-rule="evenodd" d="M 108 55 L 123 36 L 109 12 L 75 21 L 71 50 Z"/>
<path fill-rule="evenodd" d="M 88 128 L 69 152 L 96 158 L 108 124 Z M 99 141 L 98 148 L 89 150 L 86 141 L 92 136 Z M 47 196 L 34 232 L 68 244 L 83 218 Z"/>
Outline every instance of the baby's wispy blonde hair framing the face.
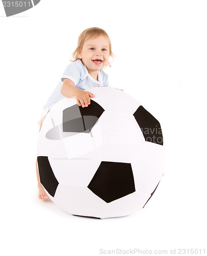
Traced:
<path fill-rule="evenodd" d="M 114 54 L 112 53 L 111 51 L 111 41 L 110 41 L 110 38 L 108 36 L 108 34 L 106 33 L 105 30 L 103 29 L 100 29 L 100 28 L 97 28 L 97 27 L 93 27 L 93 28 L 88 28 L 88 29 L 85 29 L 78 37 L 78 45 L 77 45 L 77 48 L 76 50 L 73 52 L 72 54 L 72 57 L 73 59 L 71 59 L 71 61 L 76 61 L 78 59 L 80 59 L 78 57 L 79 55 L 79 51 L 82 49 L 83 47 L 83 44 L 84 42 L 90 37 L 90 38 L 94 38 L 94 37 L 97 37 L 97 36 L 100 36 L 100 35 L 103 35 L 103 36 L 106 36 L 108 39 L 109 39 L 109 56 L 114 57 Z M 111 67 L 111 62 L 108 62 L 107 65 L 109 67 Z"/>

